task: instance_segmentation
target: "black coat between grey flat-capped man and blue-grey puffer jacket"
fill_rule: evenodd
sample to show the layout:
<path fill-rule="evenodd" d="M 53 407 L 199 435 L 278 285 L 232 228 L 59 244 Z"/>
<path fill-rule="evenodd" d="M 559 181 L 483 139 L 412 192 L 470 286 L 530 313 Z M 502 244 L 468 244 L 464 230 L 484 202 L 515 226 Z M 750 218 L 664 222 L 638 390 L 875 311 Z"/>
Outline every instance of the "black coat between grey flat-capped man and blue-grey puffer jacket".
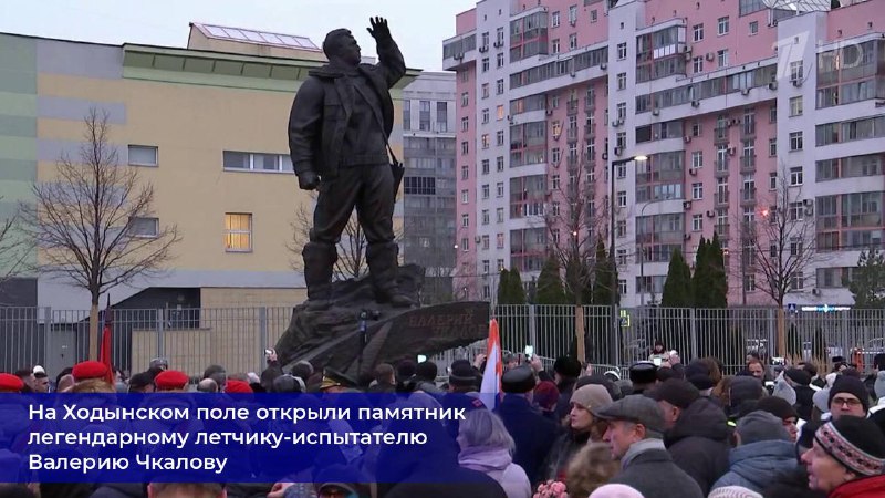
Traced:
<path fill-rule="evenodd" d="M 664 436 L 664 444 L 679 468 L 700 486 L 704 496 L 728 470 L 729 428 L 725 412 L 705 397 L 679 415 Z"/>

